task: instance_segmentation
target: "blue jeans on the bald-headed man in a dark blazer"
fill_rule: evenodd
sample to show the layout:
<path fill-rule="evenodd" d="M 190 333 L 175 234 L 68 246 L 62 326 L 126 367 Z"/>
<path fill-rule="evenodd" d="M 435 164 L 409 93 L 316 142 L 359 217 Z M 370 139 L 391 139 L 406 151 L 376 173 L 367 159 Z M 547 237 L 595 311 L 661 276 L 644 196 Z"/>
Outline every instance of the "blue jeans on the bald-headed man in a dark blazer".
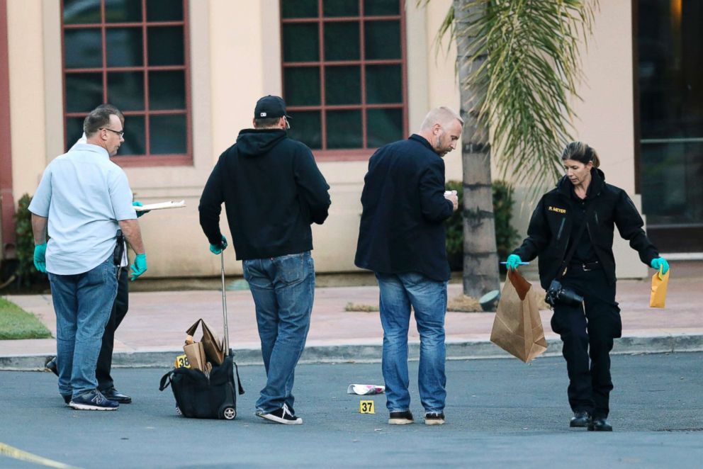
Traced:
<path fill-rule="evenodd" d="M 444 316 L 446 282 L 434 281 L 421 273 L 376 273 L 381 289 L 383 325 L 383 380 L 386 407 L 390 412 L 410 409 L 407 392 L 407 329 L 410 306 L 415 310 L 420 332 L 420 371 L 417 377 L 420 402 L 425 412 L 442 412 L 446 400 L 444 375 Z"/>

